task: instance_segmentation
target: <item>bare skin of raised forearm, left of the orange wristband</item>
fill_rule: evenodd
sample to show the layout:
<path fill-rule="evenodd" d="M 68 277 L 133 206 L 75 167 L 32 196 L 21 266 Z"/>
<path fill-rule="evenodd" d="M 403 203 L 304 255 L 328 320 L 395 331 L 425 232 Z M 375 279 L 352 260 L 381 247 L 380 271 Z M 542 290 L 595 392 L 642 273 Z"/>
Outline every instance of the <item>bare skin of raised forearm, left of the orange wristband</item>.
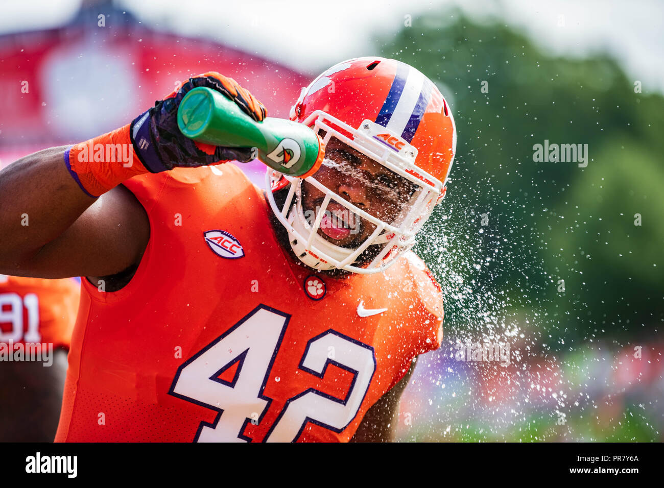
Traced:
<path fill-rule="evenodd" d="M 70 175 L 65 149 L 44 149 L 0 171 L 0 273 L 20 270 L 96 200 Z"/>

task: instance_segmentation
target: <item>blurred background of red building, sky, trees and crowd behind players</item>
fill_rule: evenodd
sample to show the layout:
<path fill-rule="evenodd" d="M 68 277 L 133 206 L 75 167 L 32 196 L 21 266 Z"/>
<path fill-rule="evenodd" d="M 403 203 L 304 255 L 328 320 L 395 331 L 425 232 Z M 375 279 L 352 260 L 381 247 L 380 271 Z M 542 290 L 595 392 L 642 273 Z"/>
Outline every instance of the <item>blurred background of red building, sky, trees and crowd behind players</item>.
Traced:
<path fill-rule="evenodd" d="M 325 3 L 295 25 L 264 2 L 224 17 L 201 1 L 187 15 L 171 1 L 68 1 L 50 24 L 13 5 L 0 24 L 0 167 L 124 125 L 190 74 L 232 76 L 286 118 L 344 58 L 407 62 L 446 96 L 458 143 L 416 246 L 444 291 L 444 345 L 418 359 L 399 440 L 664 440 L 664 96 L 651 66 L 663 41 L 648 37 L 661 4 L 630 5 L 639 25 L 627 4 L 560 2 L 537 12 L 538 33 L 509 15 L 518 1 L 491 15 L 485 2 L 368 3 L 380 23 L 368 7 L 353 21 L 343 1 L 346 17 Z M 591 18 L 607 29 L 580 36 Z M 568 37 L 574 52 L 550 41 Z M 617 50 L 620 38 L 631 44 Z M 534 161 L 545 140 L 587 144 L 587 167 Z M 261 163 L 242 168 L 264 186 Z M 468 341 L 509 344 L 510 364 L 457 361 Z"/>

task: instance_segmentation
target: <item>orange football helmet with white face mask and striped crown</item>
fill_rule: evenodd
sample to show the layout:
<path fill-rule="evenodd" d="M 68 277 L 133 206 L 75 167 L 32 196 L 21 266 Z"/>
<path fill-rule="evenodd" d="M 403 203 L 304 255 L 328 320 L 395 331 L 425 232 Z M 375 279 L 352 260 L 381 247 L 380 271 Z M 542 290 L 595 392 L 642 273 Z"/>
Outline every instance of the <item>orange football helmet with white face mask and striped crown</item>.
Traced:
<path fill-rule="evenodd" d="M 272 169 L 266 173 L 270 206 L 304 264 L 319 270 L 384 271 L 412 248 L 416 232 L 445 195 L 456 150 L 456 127 L 445 98 L 431 80 L 404 62 L 355 58 L 335 64 L 303 88 L 290 119 L 312 127 L 325 144 L 334 137 L 416 185 L 408 203 L 386 222 L 322 185 L 315 174 L 302 179 Z M 325 193 L 315 219 L 305 218 L 302 181 Z M 273 193 L 289 185 L 284 203 L 276 203 Z M 371 222 L 371 236 L 348 248 L 319 235 L 330 202 Z"/>

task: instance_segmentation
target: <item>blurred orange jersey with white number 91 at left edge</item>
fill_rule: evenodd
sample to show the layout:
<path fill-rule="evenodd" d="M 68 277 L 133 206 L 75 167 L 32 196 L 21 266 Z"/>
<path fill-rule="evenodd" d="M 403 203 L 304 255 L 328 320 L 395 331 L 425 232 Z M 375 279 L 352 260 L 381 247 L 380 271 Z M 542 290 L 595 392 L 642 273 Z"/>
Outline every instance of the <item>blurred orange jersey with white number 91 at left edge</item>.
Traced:
<path fill-rule="evenodd" d="M 52 343 L 68 348 L 80 286 L 72 278 L 0 275 L 0 343 Z"/>

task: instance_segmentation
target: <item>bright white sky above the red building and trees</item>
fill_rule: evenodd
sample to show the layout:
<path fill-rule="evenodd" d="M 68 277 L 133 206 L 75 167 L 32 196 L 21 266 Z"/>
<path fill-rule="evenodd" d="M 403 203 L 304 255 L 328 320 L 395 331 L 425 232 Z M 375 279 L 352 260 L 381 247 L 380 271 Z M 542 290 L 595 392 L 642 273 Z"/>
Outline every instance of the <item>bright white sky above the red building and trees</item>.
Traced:
<path fill-rule="evenodd" d="M 66 23 L 80 0 L 5 0 L 0 33 Z M 609 50 L 643 91 L 664 92 L 661 0 L 120 0 L 141 21 L 206 35 L 317 74 L 341 58 L 371 54 L 374 35 L 403 27 L 404 16 L 459 6 L 475 19 L 499 17 L 559 54 Z M 559 26 L 560 16 L 564 26 Z"/>

